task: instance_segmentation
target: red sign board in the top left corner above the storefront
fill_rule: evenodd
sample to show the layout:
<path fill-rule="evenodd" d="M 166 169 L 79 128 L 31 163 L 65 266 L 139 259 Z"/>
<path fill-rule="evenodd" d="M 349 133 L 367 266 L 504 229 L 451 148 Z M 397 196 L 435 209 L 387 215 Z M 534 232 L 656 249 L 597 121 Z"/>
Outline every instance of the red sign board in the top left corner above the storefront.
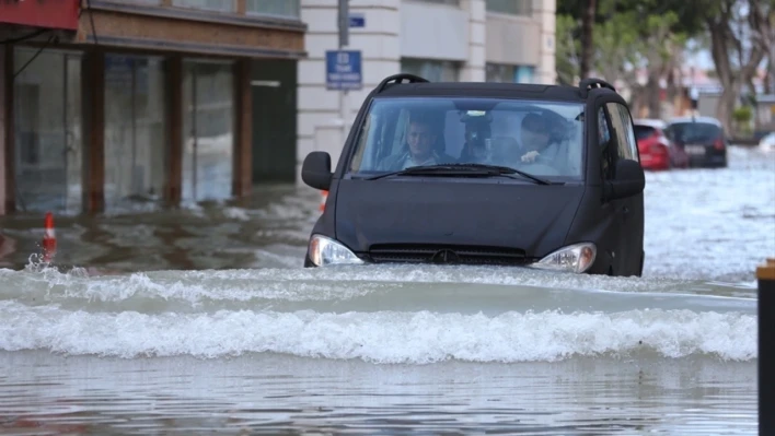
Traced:
<path fill-rule="evenodd" d="M 78 30 L 81 0 L 0 0 L 0 23 Z"/>

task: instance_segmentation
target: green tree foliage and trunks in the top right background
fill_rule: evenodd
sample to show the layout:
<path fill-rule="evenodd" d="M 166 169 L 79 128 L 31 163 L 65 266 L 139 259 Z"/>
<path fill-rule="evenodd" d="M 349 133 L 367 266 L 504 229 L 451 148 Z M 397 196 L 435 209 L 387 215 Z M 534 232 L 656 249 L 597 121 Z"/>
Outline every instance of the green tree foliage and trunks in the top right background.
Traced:
<path fill-rule="evenodd" d="M 775 66 L 775 0 L 597 0 L 593 47 L 585 51 L 580 42 L 588 1 L 557 0 L 558 76 L 582 79 L 579 66 L 587 63 L 595 74 L 637 90 L 633 70 L 644 68 L 652 115 L 655 109 L 659 114 L 659 82 L 674 80 L 687 40 L 712 54 L 724 86 L 717 116 L 727 128 L 742 91 L 752 89 L 756 68 L 764 59 Z"/>

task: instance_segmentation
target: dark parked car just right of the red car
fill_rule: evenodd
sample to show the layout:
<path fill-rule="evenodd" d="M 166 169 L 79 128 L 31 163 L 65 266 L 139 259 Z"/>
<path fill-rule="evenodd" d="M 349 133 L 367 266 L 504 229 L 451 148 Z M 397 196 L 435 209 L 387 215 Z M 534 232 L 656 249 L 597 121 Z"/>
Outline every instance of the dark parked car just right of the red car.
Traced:
<path fill-rule="evenodd" d="M 727 166 L 728 140 L 721 122 L 713 117 L 679 117 L 668 121 L 664 133 L 689 155 L 690 167 Z"/>

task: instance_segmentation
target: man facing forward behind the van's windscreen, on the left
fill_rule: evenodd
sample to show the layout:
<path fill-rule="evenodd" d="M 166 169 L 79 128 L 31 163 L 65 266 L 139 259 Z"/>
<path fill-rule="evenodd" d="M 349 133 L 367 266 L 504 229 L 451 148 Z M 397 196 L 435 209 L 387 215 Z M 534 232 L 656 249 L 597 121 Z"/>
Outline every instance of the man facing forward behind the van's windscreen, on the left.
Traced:
<path fill-rule="evenodd" d="M 380 169 L 398 170 L 410 166 L 451 164 L 455 158 L 436 150 L 438 134 L 433 125 L 426 118 L 413 116 L 406 130 L 406 144 L 402 152 L 392 154 L 382 161 Z"/>

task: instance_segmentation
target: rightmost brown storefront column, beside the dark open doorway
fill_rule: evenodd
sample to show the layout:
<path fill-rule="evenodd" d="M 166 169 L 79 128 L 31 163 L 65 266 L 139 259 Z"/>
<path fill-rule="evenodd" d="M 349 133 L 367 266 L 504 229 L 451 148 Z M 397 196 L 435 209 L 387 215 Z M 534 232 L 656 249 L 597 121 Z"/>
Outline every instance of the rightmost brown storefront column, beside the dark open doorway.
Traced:
<path fill-rule="evenodd" d="M 251 59 L 234 62 L 234 153 L 231 191 L 234 197 L 251 192 L 253 185 L 253 94 Z"/>

